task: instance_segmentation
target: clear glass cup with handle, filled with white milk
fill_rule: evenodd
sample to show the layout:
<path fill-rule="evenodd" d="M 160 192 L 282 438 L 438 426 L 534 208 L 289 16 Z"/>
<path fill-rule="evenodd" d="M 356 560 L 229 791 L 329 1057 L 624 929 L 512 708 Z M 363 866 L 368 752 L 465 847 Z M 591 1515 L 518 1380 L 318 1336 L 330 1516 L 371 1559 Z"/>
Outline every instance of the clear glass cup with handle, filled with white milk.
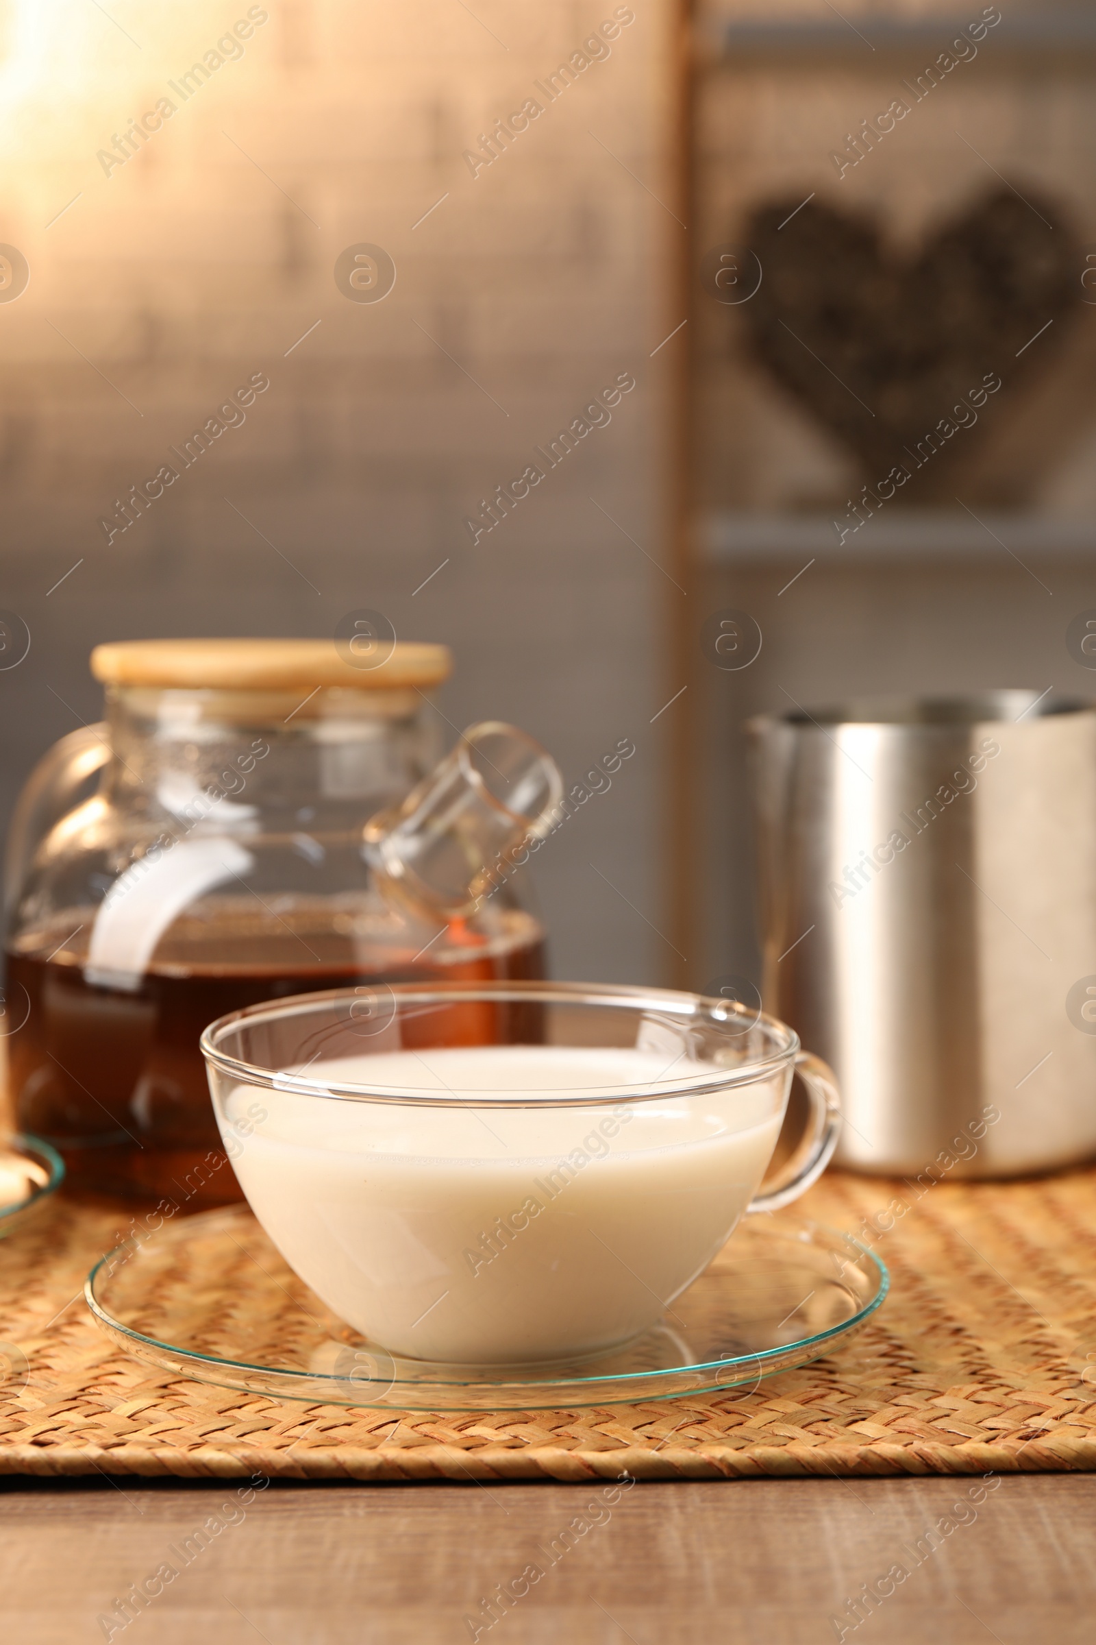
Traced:
<path fill-rule="evenodd" d="M 222 1017 L 202 1051 L 289 1267 L 370 1342 L 445 1365 L 633 1341 L 743 1212 L 815 1181 L 840 1128 L 790 1028 L 659 989 L 340 989 Z M 795 1073 L 810 1117 L 759 1193 Z"/>

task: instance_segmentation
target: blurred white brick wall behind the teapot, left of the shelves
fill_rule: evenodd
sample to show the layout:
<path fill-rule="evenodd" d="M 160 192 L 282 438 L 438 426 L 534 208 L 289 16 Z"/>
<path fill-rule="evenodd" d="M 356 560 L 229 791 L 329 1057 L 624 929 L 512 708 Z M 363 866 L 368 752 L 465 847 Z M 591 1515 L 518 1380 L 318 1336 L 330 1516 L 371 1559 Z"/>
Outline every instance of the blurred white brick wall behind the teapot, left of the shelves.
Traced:
<path fill-rule="evenodd" d="M 26 293 L 0 304 L 0 605 L 33 635 L 0 674 L 5 801 L 74 716 L 95 717 L 99 640 L 322 635 L 368 604 L 401 635 L 454 646 L 454 724 L 513 717 L 575 778 L 636 740 L 539 877 L 559 975 L 657 979 L 669 948 L 629 903 L 661 923 L 649 719 L 670 694 L 665 584 L 588 498 L 664 553 L 672 359 L 649 354 L 675 324 L 664 291 L 680 230 L 636 178 L 667 197 L 665 3 L 638 3 L 608 61 L 475 179 L 462 150 L 610 0 L 475 0 L 485 26 L 457 0 L 265 8 L 245 56 L 108 178 L 97 148 L 246 5 L 110 0 L 115 26 L 85 0 L 10 0 L 0 20 L 0 240 L 31 266 Z M 383 303 L 335 288 L 355 242 L 396 262 Z M 97 520 L 113 498 L 255 370 L 271 387 L 246 423 L 107 546 Z M 638 388 L 613 423 L 473 548 L 478 498 L 624 370 Z"/>

